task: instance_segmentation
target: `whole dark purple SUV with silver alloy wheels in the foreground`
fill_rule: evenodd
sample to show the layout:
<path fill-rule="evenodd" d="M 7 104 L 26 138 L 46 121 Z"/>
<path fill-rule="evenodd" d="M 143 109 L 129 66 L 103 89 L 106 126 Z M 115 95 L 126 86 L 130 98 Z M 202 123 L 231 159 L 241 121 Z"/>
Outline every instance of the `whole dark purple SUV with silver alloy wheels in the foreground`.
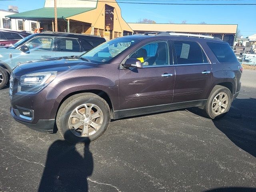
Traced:
<path fill-rule="evenodd" d="M 10 78 L 18 122 L 71 142 L 92 141 L 111 119 L 188 107 L 221 117 L 239 93 L 242 67 L 218 38 L 159 33 L 116 38 L 80 57 L 17 66 Z"/>

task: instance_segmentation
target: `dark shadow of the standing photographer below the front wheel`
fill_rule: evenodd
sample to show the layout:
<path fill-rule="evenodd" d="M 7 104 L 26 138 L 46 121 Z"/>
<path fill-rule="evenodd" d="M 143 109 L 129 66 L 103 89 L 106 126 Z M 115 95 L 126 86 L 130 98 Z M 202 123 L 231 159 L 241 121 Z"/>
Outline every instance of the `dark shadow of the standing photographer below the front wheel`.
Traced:
<path fill-rule="evenodd" d="M 93 158 L 89 144 L 79 145 L 84 146 L 83 156 L 76 144 L 66 140 L 57 140 L 50 146 L 38 192 L 88 192 Z"/>

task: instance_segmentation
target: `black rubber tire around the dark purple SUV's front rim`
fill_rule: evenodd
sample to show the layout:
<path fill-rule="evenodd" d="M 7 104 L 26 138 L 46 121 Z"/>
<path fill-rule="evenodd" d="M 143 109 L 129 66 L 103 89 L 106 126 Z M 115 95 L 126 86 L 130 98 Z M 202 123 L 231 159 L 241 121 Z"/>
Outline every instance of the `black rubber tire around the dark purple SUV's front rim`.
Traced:
<path fill-rule="evenodd" d="M 70 114 L 76 107 L 82 104 L 95 104 L 102 110 L 102 114 L 104 117 L 102 125 L 97 130 L 97 132 L 87 137 L 76 136 L 75 134 L 72 133 L 72 131 L 68 126 Z M 110 122 L 110 108 L 108 106 L 108 103 L 103 98 L 93 93 L 81 93 L 81 94 L 70 96 L 60 106 L 60 109 L 58 110 L 58 114 L 56 117 L 56 124 L 57 124 L 58 130 L 60 130 L 60 133 L 62 134 L 63 138 L 71 143 L 78 143 L 78 142 L 89 143 L 93 140 L 96 140 L 108 128 L 109 122 Z"/>

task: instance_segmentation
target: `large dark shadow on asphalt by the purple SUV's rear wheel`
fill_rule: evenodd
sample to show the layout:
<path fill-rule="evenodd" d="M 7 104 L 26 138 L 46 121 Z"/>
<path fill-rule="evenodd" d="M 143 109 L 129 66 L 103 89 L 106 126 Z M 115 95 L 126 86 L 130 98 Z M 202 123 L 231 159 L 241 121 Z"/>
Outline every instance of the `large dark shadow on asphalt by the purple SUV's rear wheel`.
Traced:
<path fill-rule="evenodd" d="M 190 108 L 190 112 L 204 116 L 199 108 Z M 234 144 L 256 157 L 256 99 L 235 99 L 229 112 L 212 122 Z"/>

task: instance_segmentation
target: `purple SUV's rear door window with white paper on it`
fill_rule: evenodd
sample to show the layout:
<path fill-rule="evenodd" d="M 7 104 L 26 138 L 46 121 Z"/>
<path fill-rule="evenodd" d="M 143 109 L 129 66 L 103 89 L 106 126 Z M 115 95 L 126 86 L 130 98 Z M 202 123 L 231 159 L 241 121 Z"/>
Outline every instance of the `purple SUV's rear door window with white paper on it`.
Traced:
<path fill-rule="evenodd" d="M 208 60 L 197 42 L 174 41 L 177 64 L 208 63 Z"/>

